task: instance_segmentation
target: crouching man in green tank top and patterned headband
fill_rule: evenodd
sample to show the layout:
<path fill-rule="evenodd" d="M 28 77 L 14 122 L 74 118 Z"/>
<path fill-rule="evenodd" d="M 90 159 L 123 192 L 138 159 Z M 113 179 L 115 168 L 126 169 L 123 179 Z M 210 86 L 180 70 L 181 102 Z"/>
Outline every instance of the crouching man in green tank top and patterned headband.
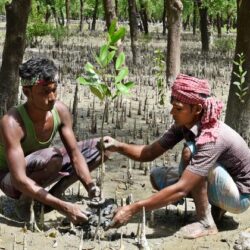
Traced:
<path fill-rule="evenodd" d="M 78 142 L 68 108 L 57 100 L 58 69 L 46 58 L 30 59 L 19 74 L 27 101 L 11 108 L 0 122 L 0 188 L 17 202 L 17 215 L 24 218 L 35 199 L 48 210 L 54 208 L 74 224 L 87 220 L 76 204 L 61 195 L 80 180 L 90 198 L 100 195 L 90 171 L 101 156 L 97 139 Z M 50 147 L 59 132 L 62 148 Z M 56 183 L 49 191 L 45 187 Z"/>

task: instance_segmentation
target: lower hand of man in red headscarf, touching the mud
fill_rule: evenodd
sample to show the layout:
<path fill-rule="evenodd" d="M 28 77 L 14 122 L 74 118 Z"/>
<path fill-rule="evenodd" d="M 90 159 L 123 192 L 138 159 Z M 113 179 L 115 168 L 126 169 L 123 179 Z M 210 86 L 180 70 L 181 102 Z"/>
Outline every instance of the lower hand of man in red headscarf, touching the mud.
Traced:
<path fill-rule="evenodd" d="M 108 228 L 121 227 L 122 225 L 126 224 L 134 214 L 135 212 L 132 209 L 132 205 L 119 207 L 115 212 L 115 216 Z"/>

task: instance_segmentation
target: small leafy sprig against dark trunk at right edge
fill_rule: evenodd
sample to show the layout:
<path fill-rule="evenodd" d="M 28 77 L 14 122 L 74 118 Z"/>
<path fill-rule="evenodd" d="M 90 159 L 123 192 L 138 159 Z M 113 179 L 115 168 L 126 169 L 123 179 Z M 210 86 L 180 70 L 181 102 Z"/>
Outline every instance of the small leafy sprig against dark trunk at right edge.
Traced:
<path fill-rule="evenodd" d="M 237 66 L 237 71 L 234 71 L 233 74 L 238 78 L 237 81 L 234 81 L 233 84 L 237 86 L 237 92 L 235 93 L 239 101 L 244 103 L 245 95 L 248 92 L 248 86 L 245 86 L 245 75 L 247 71 L 243 69 L 243 63 L 245 62 L 245 57 L 243 53 L 237 54 L 238 60 L 233 61 L 233 63 Z"/>

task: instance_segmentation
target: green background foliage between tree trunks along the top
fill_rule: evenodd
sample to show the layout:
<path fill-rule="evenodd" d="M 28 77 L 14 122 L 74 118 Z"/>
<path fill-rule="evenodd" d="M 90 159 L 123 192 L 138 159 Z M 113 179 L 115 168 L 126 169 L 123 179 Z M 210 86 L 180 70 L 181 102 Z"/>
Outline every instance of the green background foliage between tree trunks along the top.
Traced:
<path fill-rule="evenodd" d="M 10 1 L 10 0 L 9 0 Z M 86 23 L 90 24 L 94 15 L 95 4 L 97 0 L 83 0 L 83 18 Z M 7 0 L 0 0 L 0 14 L 5 14 L 4 5 Z M 115 1 L 113 1 L 115 2 Z M 183 23 L 185 28 L 192 27 L 192 20 L 194 15 L 194 8 L 197 8 L 195 1 L 183 0 Z M 118 6 L 117 18 L 119 21 L 128 20 L 128 1 L 117 1 Z M 29 46 L 36 46 L 41 37 L 50 35 L 55 42 L 56 46 L 60 46 L 65 35 L 67 35 L 66 28 L 66 1 L 65 0 L 33 0 L 32 12 L 29 16 L 29 23 L 27 28 L 27 41 Z M 138 20 L 140 19 L 140 11 L 142 8 L 146 9 L 147 18 L 149 21 L 162 22 L 164 0 L 136 0 L 138 10 Z M 217 31 L 217 18 L 221 18 L 222 31 L 229 32 L 232 30 L 232 26 L 236 22 L 236 1 L 235 0 L 203 0 L 202 6 L 208 8 L 208 14 L 211 27 L 214 29 L 214 33 Z M 74 22 L 75 27 L 80 27 L 80 1 L 70 0 L 70 19 L 76 20 Z M 103 2 L 98 0 L 97 18 L 104 20 Z M 196 10 L 196 26 L 199 25 L 199 12 Z M 90 27 L 90 25 L 89 25 Z M 196 27 L 196 28 L 197 28 Z M 157 27 L 158 32 L 161 28 Z M 219 29 L 219 28 L 218 28 Z M 74 30 L 79 31 L 79 28 Z M 71 31 L 72 32 L 72 31 Z M 148 36 L 150 37 L 150 36 Z M 235 46 L 234 39 L 220 38 L 216 39 L 214 48 L 218 50 L 228 51 L 232 50 Z"/>

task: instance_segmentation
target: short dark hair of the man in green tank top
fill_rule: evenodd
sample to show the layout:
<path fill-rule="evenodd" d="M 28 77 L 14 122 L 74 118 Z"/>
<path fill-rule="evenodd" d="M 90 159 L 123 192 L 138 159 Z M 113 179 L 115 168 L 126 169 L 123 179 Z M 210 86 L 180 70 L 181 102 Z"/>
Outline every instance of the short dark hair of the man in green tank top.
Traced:
<path fill-rule="evenodd" d="M 47 58 L 32 58 L 19 66 L 19 75 L 23 80 L 54 81 L 58 69 Z"/>

